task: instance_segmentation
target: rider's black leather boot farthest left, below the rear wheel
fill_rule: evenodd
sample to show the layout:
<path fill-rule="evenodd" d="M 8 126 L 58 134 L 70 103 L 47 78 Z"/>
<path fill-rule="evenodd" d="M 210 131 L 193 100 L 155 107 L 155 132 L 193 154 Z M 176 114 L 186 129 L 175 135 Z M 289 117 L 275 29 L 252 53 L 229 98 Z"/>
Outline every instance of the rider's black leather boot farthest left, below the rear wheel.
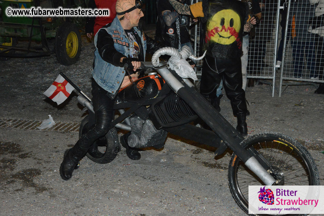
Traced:
<path fill-rule="evenodd" d="M 87 150 L 80 148 L 79 141 L 64 153 L 64 159 L 60 166 L 60 175 L 64 180 L 69 180 L 72 177 L 73 171 L 78 167 L 79 160 L 86 153 Z"/>

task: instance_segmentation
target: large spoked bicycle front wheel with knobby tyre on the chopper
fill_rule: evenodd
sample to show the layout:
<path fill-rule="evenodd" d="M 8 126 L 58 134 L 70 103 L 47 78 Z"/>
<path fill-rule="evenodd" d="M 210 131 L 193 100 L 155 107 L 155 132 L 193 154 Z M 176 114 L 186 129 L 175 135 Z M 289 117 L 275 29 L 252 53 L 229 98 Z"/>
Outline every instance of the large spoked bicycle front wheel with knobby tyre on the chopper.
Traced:
<path fill-rule="evenodd" d="M 266 170 L 276 180 L 274 185 L 319 185 L 313 158 L 296 140 L 281 133 L 267 132 L 248 137 L 241 144 L 245 149 L 254 147 L 258 161 L 267 165 Z M 228 167 L 228 184 L 233 198 L 248 214 L 249 185 L 261 186 L 263 182 L 234 153 Z"/>

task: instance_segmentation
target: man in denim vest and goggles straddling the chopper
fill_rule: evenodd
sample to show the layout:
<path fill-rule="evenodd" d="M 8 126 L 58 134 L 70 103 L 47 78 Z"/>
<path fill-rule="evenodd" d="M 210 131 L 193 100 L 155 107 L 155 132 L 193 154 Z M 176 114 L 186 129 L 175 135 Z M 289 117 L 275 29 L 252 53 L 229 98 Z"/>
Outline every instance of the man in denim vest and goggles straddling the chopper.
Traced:
<path fill-rule="evenodd" d="M 91 84 L 95 116 L 90 118 L 93 121 L 89 123 L 92 125 L 90 130 L 64 154 L 60 166 L 60 175 L 64 180 L 71 178 L 75 165 L 87 153 L 92 143 L 109 131 L 116 94 L 121 87 L 137 79 L 139 74 L 136 70 L 141 66 L 141 61 L 145 60 L 146 50 L 154 52 L 163 47 L 137 28 L 140 18 L 144 16 L 142 4 L 142 0 L 118 0 L 117 17 L 95 36 L 96 50 Z M 133 68 L 132 72 L 124 69 L 125 63 Z M 128 135 L 125 134 L 121 142 L 126 148 L 127 156 L 138 160 L 141 155 L 127 144 Z"/>

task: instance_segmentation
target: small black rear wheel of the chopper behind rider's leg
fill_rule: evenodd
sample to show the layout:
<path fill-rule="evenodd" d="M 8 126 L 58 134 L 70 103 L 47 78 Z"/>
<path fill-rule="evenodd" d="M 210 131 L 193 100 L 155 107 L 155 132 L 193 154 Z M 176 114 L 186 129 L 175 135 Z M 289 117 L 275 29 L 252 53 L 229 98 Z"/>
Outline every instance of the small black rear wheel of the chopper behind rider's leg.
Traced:
<path fill-rule="evenodd" d="M 89 116 L 86 116 L 80 125 L 79 138 L 87 133 L 89 123 Z M 118 135 L 115 128 L 112 128 L 105 136 L 96 140 L 87 152 L 87 157 L 98 163 L 107 164 L 111 162 L 120 150 Z"/>

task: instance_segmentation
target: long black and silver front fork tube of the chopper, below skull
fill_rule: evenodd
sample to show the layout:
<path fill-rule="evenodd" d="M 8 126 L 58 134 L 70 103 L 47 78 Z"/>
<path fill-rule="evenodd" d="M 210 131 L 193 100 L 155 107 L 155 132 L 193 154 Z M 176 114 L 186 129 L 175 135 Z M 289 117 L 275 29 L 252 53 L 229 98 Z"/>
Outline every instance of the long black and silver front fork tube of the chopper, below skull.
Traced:
<path fill-rule="evenodd" d="M 245 150 L 240 143 L 243 136 L 219 112 L 199 94 L 193 87 L 168 69 L 159 69 L 158 72 L 167 81 L 170 87 L 203 119 L 204 122 L 226 143 L 226 145 L 257 175 L 265 185 L 272 185 L 276 180 L 265 168 Z"/>

